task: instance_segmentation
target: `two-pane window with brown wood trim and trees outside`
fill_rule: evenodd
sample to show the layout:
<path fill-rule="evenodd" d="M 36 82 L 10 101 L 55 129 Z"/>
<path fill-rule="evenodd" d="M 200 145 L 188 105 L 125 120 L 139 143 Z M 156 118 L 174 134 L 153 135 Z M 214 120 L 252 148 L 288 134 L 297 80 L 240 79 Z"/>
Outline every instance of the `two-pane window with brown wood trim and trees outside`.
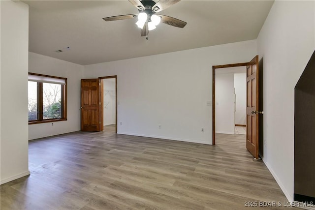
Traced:
<path fill-rule="evenodd" d="M 66 82 L 29 73 L 29 124 L 66 120 Z"/>

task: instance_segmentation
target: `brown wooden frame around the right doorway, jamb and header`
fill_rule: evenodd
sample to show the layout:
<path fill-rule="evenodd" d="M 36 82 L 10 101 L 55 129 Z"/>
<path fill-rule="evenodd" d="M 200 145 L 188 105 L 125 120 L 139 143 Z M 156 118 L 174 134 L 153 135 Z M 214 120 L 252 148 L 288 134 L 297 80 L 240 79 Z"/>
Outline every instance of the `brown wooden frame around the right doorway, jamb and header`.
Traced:
<path fill-rule="evenodd" d="M 216 145 L 216 69 L 247 65 L 248 62 L 212 66 L 212 145 Z"/>

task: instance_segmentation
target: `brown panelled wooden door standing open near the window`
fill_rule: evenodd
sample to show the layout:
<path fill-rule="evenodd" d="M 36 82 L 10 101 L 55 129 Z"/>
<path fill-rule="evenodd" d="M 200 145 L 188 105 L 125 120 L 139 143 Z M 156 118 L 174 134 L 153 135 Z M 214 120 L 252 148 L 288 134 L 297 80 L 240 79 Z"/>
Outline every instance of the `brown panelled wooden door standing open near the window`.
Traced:
<path fill-rule="evenodd" d="M 101 131 L 103 86 L 100 79 L 81 80 L 81 130 Z"/>

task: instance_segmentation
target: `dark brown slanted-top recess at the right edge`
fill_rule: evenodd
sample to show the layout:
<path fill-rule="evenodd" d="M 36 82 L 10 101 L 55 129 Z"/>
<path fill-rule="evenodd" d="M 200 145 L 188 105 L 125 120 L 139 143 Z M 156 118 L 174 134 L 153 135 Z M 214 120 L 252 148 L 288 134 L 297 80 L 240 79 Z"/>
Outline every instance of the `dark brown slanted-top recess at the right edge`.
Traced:
<path fill-rule="evenodd" d="M 294 94 L 294 200 L 315 203 L 315 52 Z"/>

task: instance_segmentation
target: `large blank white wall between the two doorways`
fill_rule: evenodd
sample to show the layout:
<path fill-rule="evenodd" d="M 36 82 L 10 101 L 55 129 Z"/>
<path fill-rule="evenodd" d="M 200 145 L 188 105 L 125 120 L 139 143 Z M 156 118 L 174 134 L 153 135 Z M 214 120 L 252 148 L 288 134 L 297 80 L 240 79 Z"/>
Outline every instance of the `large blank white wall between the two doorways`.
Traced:
<path fill-rule="evenodd" d="M 84 77 L 117 75 L 118 133 L 211 144 L 212 65 L 256 53 L 251 40 L 87 65 Z"/>

